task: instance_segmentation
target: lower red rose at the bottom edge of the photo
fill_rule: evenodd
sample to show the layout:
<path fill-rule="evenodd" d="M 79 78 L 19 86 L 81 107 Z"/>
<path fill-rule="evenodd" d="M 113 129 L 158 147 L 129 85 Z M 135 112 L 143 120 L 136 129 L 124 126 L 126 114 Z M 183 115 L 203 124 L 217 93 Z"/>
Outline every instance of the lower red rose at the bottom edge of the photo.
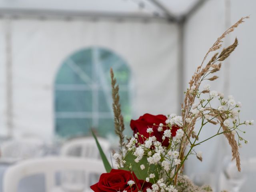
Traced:
<path fill-rule="evenodd" d="M 132 174 L 130 171 L 112 169 L 110 173 L 103 173 L 100 176 L 99 182 L 92 185 L 91 189 L 94 192 L 122 192 L 123 190 L 126 190 L 127 192 L 138 192 L 136 187 L 137 184 L 139 190 L 146 192 L 146 189 L 151 187 L 150 183 L 144 180 L 139 180 L 134 173 Z M 129 180 L 133 180 L 136 184 L 133 184 L 130 187 L 127 184 Z"/>

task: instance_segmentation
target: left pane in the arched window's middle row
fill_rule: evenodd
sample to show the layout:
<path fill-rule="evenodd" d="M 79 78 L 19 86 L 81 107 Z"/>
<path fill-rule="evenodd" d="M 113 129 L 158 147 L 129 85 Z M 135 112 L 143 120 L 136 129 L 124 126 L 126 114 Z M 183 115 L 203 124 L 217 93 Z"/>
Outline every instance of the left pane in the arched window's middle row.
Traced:
<path fill-rule="evenodd" d="M 91 112 L 92 92 L 85 90 L 55 90 L 56 112 Z"/>

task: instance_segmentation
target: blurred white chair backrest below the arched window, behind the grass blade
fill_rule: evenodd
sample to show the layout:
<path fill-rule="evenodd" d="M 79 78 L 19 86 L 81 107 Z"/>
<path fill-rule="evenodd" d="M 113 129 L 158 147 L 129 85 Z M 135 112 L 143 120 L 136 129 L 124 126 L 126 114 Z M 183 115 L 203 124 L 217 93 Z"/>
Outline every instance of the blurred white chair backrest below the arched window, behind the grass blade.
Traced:
<path fill-rule="evenodd" d="M 104 138 L 98 138 L 98 141 L 103 152 L 108 156 L 110 143 Z M 61 149 L 61 155 L 100 158 L 100 153 L 93 137 L 76 138 L 65 142 Z"/>

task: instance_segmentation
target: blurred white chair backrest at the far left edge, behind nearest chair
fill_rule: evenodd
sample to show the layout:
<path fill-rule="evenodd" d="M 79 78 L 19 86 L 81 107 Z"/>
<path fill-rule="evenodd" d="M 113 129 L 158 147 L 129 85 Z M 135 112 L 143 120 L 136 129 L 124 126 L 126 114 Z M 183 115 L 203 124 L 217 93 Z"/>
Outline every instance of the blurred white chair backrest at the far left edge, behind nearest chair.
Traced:
<path fill-rule="evenodd" d="M 31 158 L 41 156 L 44 142 L 37 138 L 8 140 L 1 144 L 3 158 Z"/>

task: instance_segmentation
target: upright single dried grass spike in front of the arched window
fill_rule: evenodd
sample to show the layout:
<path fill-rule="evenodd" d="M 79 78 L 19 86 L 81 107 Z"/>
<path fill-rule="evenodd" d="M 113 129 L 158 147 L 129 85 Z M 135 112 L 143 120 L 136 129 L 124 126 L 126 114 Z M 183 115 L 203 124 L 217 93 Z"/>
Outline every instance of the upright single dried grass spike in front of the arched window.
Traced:
<path fill-rule="evenodd" d="M 125 142 L 124 142 L 124 117 L 122 116 L 121 112 L 121 105 L 119 103 L 119 86 L 116 84 L 116 78 L 114 78 L 114 72 L 112 68 L 110 68 L 110 76 L 111 76 L 111 87 L 112 87 L 112 99 L 113 104 L 112 108 L 114 111 L 114 124 L 115 124 L 115 133 L 119 137 L 119 145 L 120 145 L 120 154 L 122 155 L 122 158 L 124 158 L 124 148 L 125 148 Z"/>

